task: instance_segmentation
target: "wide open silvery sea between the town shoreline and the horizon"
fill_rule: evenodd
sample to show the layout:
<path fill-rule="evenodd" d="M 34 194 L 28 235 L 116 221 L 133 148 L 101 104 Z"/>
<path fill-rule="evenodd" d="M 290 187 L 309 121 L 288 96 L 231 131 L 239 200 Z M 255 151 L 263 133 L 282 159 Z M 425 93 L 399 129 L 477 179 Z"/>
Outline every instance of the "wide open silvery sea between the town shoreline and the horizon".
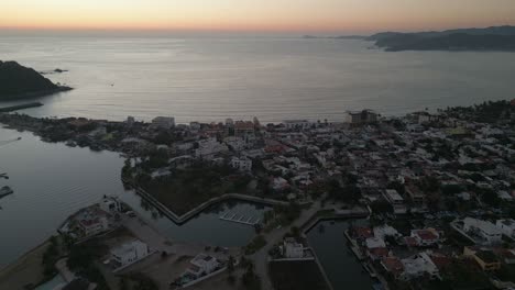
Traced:
<path fill-rule="evenodd" d="M 370 108 L 402 114 L 513 98 L 514 53 L 366 49 L 302 38 L 0 37 L 13 59 L 76 89 L 33 115 L 150 120 L 342 119 Z"/>

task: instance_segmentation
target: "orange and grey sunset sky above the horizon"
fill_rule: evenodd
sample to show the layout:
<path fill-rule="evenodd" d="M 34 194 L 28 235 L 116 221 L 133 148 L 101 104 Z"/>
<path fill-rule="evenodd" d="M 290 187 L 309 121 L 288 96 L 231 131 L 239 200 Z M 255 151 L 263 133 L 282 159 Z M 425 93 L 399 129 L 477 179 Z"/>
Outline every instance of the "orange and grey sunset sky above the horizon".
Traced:
<path fill-rule="evenodd" d="M 0 0 L 0 29 L 374 32 L 515 24 L 515 0 Z"/>

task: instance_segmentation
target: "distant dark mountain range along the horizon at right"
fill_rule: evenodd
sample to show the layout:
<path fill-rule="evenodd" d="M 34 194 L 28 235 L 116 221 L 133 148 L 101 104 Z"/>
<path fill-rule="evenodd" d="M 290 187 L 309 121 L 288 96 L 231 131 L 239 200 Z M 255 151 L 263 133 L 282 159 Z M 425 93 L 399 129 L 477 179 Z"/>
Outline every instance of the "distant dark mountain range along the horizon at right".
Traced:
<path fill-rule="evenodd" d="M 515 26 L 459 29 L 428 32 L 381 32 L 371 36 L 349 35 L 305 38 L 350 38 L 375 42 L 387 52 L 401 51 L 501 51 L 515 52 Z"/>

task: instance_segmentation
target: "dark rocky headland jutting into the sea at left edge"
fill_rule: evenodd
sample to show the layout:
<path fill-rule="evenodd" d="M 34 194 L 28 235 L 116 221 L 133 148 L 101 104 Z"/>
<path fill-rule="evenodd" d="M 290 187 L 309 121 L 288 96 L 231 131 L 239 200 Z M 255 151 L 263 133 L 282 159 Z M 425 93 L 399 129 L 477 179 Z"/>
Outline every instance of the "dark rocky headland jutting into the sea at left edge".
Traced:
<path fill-rule="evenodd" d="M 0 60 L 0 101 L 41 97 L 70 89 L 52 82 L 17 62 Z"/>

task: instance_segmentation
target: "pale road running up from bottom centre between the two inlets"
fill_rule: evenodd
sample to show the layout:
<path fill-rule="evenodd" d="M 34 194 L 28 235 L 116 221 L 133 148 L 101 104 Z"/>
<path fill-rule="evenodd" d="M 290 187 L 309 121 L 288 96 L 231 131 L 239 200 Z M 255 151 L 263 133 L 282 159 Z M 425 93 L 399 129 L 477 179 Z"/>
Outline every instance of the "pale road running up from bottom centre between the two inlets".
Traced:
<path fill-rule="evenodd" d="M 255 266 L 255 274 L 261 278 L 261 286 L 262 290 L 273 290 L 272 280 L 269 276 L 269 250 L 276 244 L 283 242 L 283 237 L 286 233 L 288 233 L 293 226 L 302 227 L 306 224 L 311 216 L 321 210 L 322 207 L 320 201 L 315 202 L 309 209 L 304 210 L 300 212 L 300 216 L 294 221 L 291 225 L 284 226 L 282 228 L 275 228 L 270 233 L 263 234 L 264 238 L 266 239 L 266 245 L 262 247 L 260 250 L 254 253 L 253 255 L 249 256 Z"/>

